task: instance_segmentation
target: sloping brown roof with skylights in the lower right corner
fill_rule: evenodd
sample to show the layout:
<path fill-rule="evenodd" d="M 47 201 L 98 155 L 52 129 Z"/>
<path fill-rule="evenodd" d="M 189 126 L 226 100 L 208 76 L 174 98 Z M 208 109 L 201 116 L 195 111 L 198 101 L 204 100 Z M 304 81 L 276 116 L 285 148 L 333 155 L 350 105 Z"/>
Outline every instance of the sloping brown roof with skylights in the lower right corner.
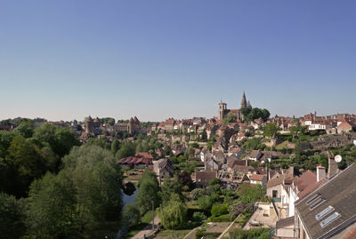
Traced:
<path fill-rule="evenodd" d="M 310 203 L 310 201 L 317 195 L 320 195 L 325 201 L 311 209 L 310 205 L 314 203 Z M 355 198 L 356 164 L 353 163 L 346 170 L 337 174 L 336 177 L 329 179 L 317 188 L 312 194 L 304 197 L 295 205 L 295 211 L 302 219 L 303 226 L 311 239 L 330 238 L 356 223 Z M 316 215 L 328 206 L 334 207 L 334 211 L 329 212 L 320 220 L 316 219 Z M 339 213 L 340 216 L 325 227 L 321 227 L 320 222 L 335 212 Z"/>

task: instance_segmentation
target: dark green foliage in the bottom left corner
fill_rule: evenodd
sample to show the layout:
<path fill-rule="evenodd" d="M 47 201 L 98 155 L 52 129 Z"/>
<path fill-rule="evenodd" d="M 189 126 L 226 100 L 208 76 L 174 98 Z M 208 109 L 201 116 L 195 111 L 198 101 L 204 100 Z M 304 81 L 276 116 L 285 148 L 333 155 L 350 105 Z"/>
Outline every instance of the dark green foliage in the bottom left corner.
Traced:
<path fill-rule="evenodd" d="M 4 239 L 20 238 L 25 231 L 23 206 L 13 195 L 0 193 L 0 235 Z"/>

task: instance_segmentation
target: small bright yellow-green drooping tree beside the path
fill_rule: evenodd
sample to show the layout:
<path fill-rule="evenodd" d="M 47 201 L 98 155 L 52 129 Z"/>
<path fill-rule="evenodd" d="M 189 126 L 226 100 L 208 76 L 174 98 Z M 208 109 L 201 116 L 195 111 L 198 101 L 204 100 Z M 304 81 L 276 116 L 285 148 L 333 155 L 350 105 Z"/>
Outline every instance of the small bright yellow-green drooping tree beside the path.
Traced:
<path fill-rule="evenodd" d="M 160 218 L 165 228 L 182 228 L 187 218 L 187 207 L 182 203 L 179 195 L 172 194 L 168 203 L 160 209 Z"/>

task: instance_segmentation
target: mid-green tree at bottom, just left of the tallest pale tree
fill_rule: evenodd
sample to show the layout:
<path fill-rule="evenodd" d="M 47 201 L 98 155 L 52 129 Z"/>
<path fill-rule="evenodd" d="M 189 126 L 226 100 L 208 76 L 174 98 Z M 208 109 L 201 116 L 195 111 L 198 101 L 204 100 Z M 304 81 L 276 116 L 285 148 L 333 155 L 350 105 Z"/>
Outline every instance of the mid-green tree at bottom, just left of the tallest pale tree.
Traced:
<path fill-rule="evenodd" d="M 76 189 L 68 175 L 45 174 L 28 195 L 28 234 L 36 238 L 77 238 Z"/>

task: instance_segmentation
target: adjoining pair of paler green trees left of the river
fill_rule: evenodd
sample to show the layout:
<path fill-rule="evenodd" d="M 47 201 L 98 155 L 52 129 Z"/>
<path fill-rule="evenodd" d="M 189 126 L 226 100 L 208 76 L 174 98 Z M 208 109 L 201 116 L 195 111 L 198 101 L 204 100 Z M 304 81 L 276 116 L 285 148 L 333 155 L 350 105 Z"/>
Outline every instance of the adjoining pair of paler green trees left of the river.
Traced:
<path fill-rule="evenodd" d="M 28 195 L 28 233 L 77 238 L 96 222 L 119 219 L 122 174 L 114 156 L 97 146 L 74 147 L 58 175 L 36 179 Z"/>

